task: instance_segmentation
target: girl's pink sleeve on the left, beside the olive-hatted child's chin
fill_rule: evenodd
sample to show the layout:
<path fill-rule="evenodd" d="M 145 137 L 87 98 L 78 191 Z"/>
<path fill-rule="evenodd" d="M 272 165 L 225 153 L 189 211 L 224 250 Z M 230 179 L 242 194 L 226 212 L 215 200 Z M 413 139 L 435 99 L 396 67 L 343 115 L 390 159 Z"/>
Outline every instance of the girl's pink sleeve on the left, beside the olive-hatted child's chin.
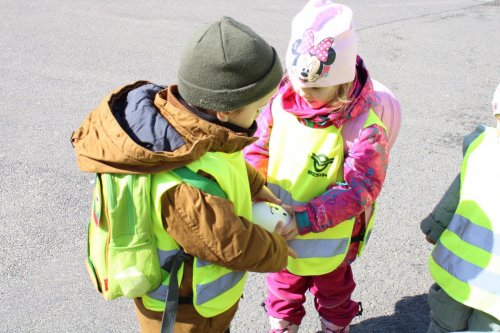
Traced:
<path fill-rule="evenodd" d="M 271 103 L 268 103 L 264 111 L 257 118 L 257 131 L 254 137 L 258 140 L 243 149 L 245 160 L 257 169 L 263 176 L 267 177 L 267 166 L 269 163 L 269 138 L 273 126 Z"/>

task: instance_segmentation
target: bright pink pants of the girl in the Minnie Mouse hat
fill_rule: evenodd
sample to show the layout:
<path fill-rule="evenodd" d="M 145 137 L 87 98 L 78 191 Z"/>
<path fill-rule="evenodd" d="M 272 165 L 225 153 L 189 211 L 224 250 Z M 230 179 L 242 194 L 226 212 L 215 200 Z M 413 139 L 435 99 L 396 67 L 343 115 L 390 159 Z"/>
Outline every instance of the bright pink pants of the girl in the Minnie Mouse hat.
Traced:
<path fill-rule="evenodd" d="M 297 276 L 284 269 L 267 275 L 266 310 L 272 317 L 300 325 L 306 314 L 305 293 L 309 290 L 321 317 L 347 326 L 359 313 L 359 304 L 351 300 L 355 286 L 351 266 L 346 264 L 319 276 Z"/>

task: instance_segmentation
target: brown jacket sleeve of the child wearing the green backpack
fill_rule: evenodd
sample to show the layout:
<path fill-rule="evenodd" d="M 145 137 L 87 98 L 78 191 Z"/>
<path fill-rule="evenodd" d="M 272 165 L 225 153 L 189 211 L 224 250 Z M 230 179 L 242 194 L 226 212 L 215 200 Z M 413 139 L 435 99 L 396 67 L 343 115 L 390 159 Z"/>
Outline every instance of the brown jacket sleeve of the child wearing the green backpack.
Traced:
<path fill-rule="evenodd" d="M 285 240 L 236 216 L 226 199 L 182 183 L 164 193 L 162 215 L 167 232 L 192 256 L 236 271 L 286 266 Z"/>

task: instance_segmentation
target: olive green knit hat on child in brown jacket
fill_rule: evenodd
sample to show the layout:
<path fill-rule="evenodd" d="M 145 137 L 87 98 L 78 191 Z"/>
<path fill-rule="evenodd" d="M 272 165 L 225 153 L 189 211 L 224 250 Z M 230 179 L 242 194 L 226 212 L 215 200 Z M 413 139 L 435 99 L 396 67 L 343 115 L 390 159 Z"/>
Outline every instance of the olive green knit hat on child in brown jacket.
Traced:
<path fill-rule="evenodd" d="M 177 77 L 186 102 L 233 111 L 269 94 L 282 75 L 275 49 L 248 26 L 224 16 L 188 41 Z"/>

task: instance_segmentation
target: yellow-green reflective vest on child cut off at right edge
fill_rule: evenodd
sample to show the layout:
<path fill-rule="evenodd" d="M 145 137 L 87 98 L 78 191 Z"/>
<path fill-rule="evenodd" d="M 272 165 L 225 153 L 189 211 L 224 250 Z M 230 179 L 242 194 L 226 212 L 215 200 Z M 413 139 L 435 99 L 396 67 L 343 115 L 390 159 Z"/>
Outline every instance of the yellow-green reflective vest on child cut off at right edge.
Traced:
<path fill-rule="evenodd" d="M 500 143 L 486 128 L 469 146 L 460 201 L 430 256 L 434 280 L 450 297 L 500 319 Z"/>

